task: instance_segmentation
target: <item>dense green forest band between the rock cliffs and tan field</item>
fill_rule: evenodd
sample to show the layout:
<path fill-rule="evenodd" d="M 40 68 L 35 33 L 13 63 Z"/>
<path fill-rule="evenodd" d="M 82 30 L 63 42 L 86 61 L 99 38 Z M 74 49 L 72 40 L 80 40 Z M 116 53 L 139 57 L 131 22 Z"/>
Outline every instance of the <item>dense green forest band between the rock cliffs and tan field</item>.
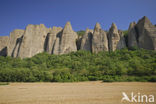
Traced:
<path fill-rule="evenodd" d="M 0 82 L 96 80 L 156 82 L 156 52 L 133 47 L 98 54 L 40 53 L 25 59 L 0 56 Z"/>

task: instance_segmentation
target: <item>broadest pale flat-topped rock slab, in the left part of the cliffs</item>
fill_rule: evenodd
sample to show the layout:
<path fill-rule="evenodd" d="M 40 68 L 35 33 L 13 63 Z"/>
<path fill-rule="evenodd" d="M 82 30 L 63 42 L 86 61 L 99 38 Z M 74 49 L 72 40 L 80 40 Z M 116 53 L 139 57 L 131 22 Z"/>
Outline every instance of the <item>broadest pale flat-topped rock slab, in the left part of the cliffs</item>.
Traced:
<path fill-rule="evenodd" d="M 18 57 L 32 57 L 37 53 L 44 52 L 44 43 L 48 32 L 43 24 L 28 25 L 23 34 Z"/>

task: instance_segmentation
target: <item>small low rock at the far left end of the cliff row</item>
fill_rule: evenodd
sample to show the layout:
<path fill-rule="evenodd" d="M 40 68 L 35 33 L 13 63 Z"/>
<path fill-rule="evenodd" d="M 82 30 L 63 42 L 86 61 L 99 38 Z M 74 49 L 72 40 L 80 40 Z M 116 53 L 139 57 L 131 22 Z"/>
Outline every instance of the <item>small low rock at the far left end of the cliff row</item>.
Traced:
<path fill-rule="evenodd" d="M 8 41 L 9 41 L 8 36 L 1 36 L 0 37 L 0 56 L 7 56 Z"/>

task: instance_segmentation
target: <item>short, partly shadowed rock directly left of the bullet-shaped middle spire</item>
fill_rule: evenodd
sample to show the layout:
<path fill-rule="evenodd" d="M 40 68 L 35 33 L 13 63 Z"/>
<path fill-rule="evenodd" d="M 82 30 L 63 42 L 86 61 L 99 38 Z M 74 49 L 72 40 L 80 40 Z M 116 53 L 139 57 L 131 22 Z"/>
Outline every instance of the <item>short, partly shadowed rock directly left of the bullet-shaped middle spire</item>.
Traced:
<path fill-rule="evenodd" d="M 81 50 L 92 51 L 92 36 L 93 30 L 87 28 L 81 40 Z"/>

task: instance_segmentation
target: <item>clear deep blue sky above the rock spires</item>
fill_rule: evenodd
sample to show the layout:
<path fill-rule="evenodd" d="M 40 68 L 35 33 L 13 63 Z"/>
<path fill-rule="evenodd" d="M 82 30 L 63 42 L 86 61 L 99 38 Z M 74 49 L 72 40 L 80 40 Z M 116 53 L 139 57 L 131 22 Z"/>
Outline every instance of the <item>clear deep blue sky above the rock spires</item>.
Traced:
<path fill-rule="evenodd" d="M 67 21 L 75 31 L 93 29 L 96 22 L 104 30 L 112 22 L 126 30 L 143 16 L 156 24 L 156 0 L 0 0 L 0 35 L 28 24 L 64 27 Z"/>

